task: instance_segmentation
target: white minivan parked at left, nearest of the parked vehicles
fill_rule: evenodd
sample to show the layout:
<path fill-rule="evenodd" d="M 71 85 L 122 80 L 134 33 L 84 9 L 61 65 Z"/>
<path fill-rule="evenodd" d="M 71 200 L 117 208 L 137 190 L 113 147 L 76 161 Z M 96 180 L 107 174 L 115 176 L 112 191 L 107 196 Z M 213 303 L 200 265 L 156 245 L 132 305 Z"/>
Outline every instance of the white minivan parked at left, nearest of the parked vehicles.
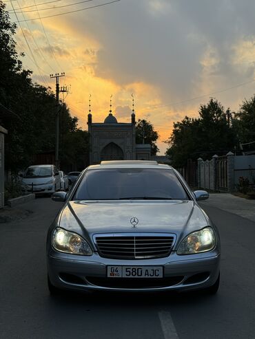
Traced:
<path fill-rule="evenodd" d="M 21 175 L 21 184 L 26 192 L 51 194 L 61 190 L 61 179 L 54 165 L 29 166 Z"/>

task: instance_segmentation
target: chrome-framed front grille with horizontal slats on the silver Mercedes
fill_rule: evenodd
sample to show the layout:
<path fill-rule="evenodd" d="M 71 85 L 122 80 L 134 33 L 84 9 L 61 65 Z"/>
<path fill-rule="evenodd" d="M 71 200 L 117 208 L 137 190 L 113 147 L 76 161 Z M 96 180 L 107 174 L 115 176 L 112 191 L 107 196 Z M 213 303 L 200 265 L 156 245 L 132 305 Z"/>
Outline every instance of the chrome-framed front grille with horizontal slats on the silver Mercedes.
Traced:
<path fill-rule="evenodd" d="M 112 259 L 153 259 L 169 256 L 174 234 L 96 234 L 100 256 Z"/>

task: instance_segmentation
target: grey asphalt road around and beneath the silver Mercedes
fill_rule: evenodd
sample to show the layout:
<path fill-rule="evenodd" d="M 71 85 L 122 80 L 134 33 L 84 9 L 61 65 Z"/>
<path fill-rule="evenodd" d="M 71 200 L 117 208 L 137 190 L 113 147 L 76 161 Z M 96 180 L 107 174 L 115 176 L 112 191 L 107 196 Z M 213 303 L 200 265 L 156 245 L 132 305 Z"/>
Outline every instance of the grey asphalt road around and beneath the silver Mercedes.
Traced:
<path fill-rule="evenodd" d="M 255 338 L 255 223 L 203 205 L 222 241 L 221 287 L 203 294 L 50 296 L 45 236 L 61 207 L 31 203 L 26 219 L 0 224 L 0 338 Z"/>

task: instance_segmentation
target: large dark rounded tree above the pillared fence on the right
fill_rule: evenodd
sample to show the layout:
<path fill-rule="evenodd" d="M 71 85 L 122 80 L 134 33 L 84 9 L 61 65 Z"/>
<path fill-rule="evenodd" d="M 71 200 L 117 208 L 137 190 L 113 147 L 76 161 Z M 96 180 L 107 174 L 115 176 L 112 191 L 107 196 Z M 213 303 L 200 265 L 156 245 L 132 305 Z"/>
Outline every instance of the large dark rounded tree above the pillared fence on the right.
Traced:
<path fill-rule="evenodd" d="M 236 131 L 230 118 L 232 113 L 216 99 L 211 98 L 207 105 L 201 105 L 198 118 L 185 118 L 174 122 L 166 155 L 176 167 L 184 166 L 187 159 L 209 157 L 215 153 L 228 152 L 234 148 Z"/>

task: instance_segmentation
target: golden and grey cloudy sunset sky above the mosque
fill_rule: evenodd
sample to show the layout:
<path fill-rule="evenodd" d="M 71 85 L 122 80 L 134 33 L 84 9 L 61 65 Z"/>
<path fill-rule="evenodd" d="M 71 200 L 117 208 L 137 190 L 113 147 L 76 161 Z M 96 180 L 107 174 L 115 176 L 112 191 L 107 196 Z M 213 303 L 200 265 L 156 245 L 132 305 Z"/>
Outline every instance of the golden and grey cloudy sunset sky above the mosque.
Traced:
<path fill-rule="evenodd" d="M 254 94 L 253 0 L 3 2 L 20 21 L 23 67 L 52 89 L 49 75 L 65 72 L 61 85 L 72 85 L 65 102 L 83 129 L 90 94 L 93 122 L 108 115 L 111 95 L 118 121 L 130 122 L 134 94 L 136 120 L 154 125 L 164 154 L 173 122 L 197 116 L 210 97 L 237 110 Z M 55 16 L 65 12 L 72 13 Z"/>

